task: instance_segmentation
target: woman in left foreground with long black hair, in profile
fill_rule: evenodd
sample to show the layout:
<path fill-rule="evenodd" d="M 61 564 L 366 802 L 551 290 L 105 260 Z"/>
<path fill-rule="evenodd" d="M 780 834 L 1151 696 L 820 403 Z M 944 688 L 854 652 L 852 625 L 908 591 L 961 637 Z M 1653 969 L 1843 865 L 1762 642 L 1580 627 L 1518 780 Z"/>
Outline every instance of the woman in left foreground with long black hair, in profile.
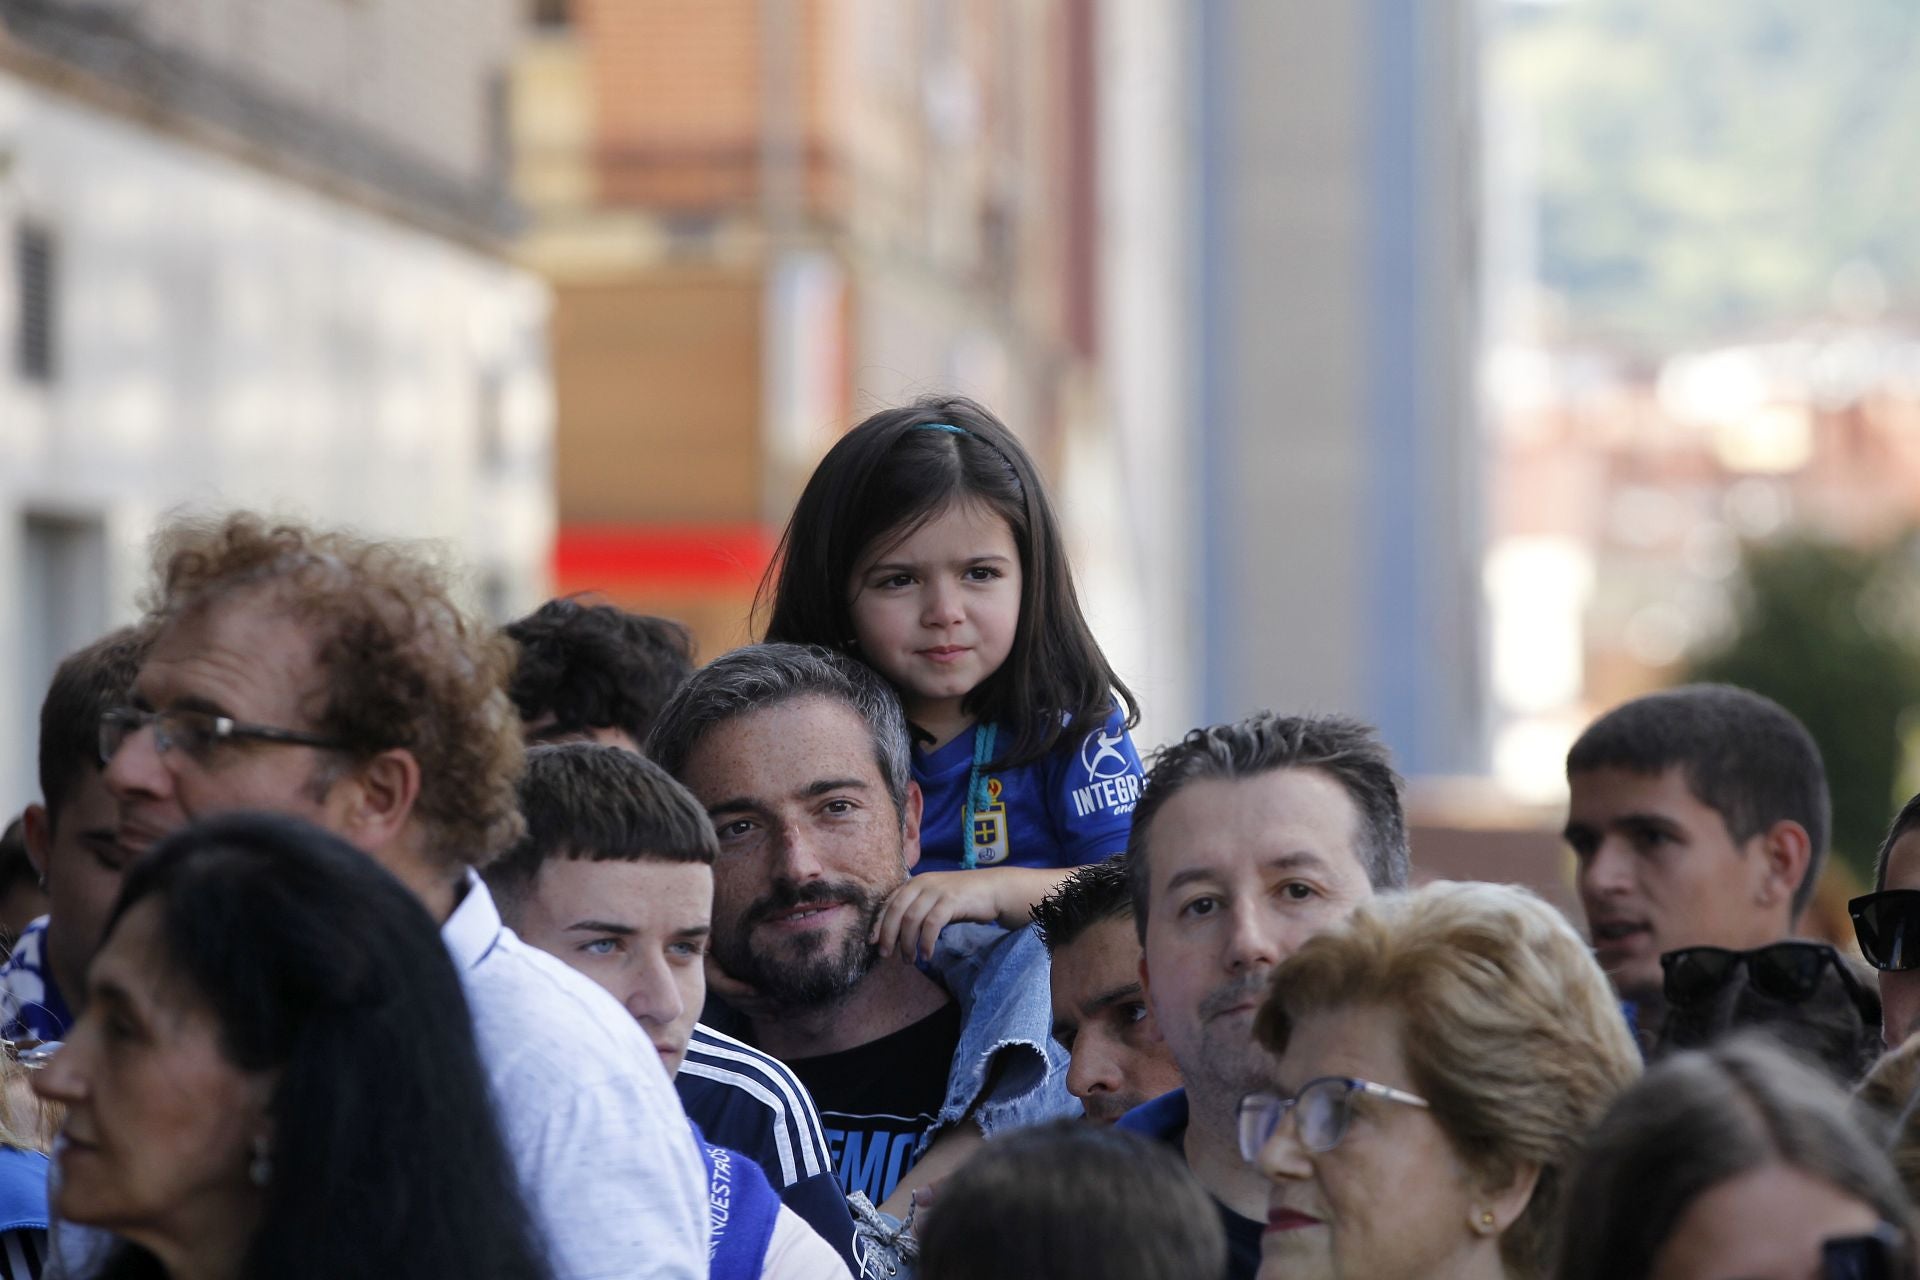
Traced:
<path fill-rule="evenodd" d="M 543 1280 L 461 983 L 420 902 L 290 818 L 127 875 L 36 1090 L 100 1276 Z"/>

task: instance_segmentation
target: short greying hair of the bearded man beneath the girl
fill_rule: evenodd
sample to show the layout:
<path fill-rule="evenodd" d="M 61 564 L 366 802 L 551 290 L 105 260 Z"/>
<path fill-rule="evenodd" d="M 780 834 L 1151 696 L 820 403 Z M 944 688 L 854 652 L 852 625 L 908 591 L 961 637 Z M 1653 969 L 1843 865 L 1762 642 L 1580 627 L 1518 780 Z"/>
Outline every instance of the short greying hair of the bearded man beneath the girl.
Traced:
<path fill-rule="evenodd" d="M 912 760 L 900 700 L 872 668 L 818 645 L 747 645 L 693 672 L 653 722 L 647 754 L 685 781 L 687 756 L 708 729 L 793 699 L 831 699 L 866 722 L 879 777 L 904 814 Z"/>

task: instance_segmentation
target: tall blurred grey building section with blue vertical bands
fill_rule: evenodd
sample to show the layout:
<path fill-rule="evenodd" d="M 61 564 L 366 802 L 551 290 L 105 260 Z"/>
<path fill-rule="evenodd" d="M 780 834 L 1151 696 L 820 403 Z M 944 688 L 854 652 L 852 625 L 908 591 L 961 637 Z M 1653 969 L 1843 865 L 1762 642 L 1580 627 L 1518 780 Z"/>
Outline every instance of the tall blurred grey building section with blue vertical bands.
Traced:
<path fill-rule="evenodd" d="M 1179 8 L 1202 706 L 1480 773 L 1478 6 Z"/>

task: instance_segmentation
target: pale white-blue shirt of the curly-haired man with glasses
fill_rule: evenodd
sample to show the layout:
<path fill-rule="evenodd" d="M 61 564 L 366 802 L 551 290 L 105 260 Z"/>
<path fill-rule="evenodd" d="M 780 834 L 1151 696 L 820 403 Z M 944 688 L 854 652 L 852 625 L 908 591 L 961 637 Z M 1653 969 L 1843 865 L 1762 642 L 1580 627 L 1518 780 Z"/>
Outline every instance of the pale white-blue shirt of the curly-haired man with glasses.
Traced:
<path fill-rule="evenodd" d="M 705 1280 L 707 1167 L 639 1023 L 507 929 L 480 877 L 440 936 L 555 1280 Z"/>

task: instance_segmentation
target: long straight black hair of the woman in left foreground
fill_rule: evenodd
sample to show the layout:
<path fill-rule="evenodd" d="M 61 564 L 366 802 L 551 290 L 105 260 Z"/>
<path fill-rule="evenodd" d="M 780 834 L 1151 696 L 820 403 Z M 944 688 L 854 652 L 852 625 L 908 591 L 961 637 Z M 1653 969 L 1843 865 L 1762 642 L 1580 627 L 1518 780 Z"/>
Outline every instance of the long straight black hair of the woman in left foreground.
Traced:
<path fill-rule="evenodd" d="M 399 881 L 303 821 L 234 814 L 134 864 L 108 933 L 146 898 L 228 1061 L 280 1073 L 242 1276 L 545 1280 L 459 975 Z M 100 1274 L 163 1272 L 123 1244 Z"/>

